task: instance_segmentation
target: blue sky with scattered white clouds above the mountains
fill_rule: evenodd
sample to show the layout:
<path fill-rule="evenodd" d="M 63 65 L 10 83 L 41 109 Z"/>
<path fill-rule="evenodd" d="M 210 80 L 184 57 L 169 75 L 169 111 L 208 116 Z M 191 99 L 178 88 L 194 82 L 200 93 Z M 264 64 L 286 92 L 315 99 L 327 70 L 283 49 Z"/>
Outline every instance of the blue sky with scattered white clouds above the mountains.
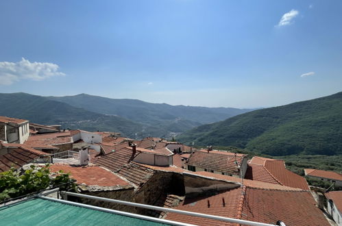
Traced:
<path fill-rule="evenodd" d="M 0 92 L 283 105 L 342 91 L 341 27 L 342 1 L 0 1 Z"/>

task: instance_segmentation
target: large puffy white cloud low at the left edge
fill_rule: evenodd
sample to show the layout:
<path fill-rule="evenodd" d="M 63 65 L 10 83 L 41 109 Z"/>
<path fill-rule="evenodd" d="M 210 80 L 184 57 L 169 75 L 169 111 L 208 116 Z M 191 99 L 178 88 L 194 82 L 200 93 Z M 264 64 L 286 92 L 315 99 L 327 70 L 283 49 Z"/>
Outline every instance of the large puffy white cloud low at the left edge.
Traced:
<path fill-rule="evenodd" d="M 0 62 L 0 85 L 10 85 L 21 79 L 40 81 L 53 76 L 64 76 L 53 63 L 29 62 L 21 58 L 19 62 Z"/>

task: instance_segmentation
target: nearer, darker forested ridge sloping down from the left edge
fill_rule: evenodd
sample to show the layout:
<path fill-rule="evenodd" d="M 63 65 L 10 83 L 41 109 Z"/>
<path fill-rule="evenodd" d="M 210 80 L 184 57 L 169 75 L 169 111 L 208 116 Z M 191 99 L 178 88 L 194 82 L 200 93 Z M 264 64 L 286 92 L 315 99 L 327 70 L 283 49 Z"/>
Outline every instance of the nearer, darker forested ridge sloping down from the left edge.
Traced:
<path fill-rule="evenodd" d="M 126 136 L 140 133 L 143 126 L 119 116 L 106 116 L 45 97 L 25 93 L 0 94 L 0 115 L 25 118 L 34 123 L 60 124 L 64 128 L 89 131 L 119 131 Z"/>

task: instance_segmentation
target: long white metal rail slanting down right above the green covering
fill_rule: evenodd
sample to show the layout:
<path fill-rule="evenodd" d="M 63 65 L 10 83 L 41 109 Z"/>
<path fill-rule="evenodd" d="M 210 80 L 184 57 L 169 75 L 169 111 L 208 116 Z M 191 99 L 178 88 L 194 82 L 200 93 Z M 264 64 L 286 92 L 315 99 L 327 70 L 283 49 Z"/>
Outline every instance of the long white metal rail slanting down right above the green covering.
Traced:
<path fill-rule="evenodd" d="M 149 210 L 158 210 L 158 211 L 162 211 L 162 212 L 173 212 L 173 213 L 177 213 L 177 214 L 184 214 L 184 215 L 188 215 L 188 216 L 197 216 L 197 217 L 201 217 L 201 218 L 209 218 L 212 220 L 217 220 L 217 221 L 224 221 L 224 222 L 229 222 L 229 223 L 238 223 L 241 225 L 252 225 L 252 226 L 276 226 L 276 225 L 270 225 L 270 224 L 266 224 L 266 223 L 258 223 L 258 222 L 254 222 L 254 221 L 245 221 L 245 220 L 241 220 L 241 219 L 236 219 L 236 218 L 228 218 L 228 217 L 223 217 L 223 216 L 215 216 L 215 215 L 210 215 L 210 214 L 199 214 L 196 212 L 189 212 L 189 211 L 184 211 L 184 210 L 175 210 L 175 209 L 169 209 L 169 208 L 161 208 L 158 206 L 154 206 L 154 205 L 145 205 L 145 204 L 141 204 L 141 203 L 132 203 L 132 202 L 128 202 L 128 201 L 121 201 L 121 200 L 117 200 L 117 199 L 107 199 L 107 198 L 102 198 L 102 197 L 95 197 L 95 196 L 91 196 L 91 195 L 87 195 L 87 194 L 77 194 L 77 193 L 73 193 L 73 192 L 60 192 L 62 195 L 66 195 L 66 197 L 68 195 L 73 196 L 73 197 L 80 197 L 80 198 L 86 198 L 86 199 L 95 199 L 98 201 L 106 201 L 109 203 L 117 203 L 117 204 L 122 204 L 122 205 L 130 205 L 130 206 L 134 206 L 137 208 L 145 208 L 145 209 L 149 209 Z"/>

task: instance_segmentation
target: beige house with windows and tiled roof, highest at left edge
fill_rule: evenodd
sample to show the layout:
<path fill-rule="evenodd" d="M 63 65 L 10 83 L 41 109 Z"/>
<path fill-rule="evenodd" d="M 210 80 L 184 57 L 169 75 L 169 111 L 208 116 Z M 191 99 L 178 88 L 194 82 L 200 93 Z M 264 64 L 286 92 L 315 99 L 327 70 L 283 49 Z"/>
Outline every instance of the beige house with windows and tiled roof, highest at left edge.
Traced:
<path fill-rule="evenodd" d="M 23 144 L 29 138 L 29 121 L 0 116 L 0 140 Z"/>

